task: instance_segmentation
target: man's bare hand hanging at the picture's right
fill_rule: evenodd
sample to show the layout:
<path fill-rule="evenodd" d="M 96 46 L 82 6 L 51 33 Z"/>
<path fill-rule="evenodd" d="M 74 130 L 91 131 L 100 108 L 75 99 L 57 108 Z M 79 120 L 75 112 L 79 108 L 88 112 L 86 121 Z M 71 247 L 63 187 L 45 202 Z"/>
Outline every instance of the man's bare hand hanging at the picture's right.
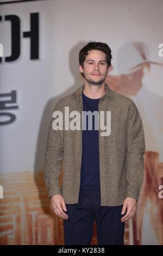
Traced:
<path fill-rule="evenodd" d="M 126 212 L 126 210 L 127 210 L 127 212 L 126 212 L 126 215 L 124 215 L 121 218 L 121 222 L 129 220 L 129 218 L 133 218 L 133 216 L 134 216 L 134 214 L 136 212 L 136 208 L 137 208 L 137 201 L 136 201 L 136 199 L 131 198 L 131 197 L 127 197 L 124 200 L 121 214 L 124 214 Z"/>

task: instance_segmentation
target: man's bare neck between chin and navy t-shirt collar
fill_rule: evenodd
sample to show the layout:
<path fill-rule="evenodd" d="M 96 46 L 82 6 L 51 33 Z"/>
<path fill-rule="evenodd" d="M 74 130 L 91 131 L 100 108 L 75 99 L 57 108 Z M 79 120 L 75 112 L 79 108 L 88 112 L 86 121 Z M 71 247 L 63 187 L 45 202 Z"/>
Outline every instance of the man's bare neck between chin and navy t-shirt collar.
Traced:
<path fill-rule="evenodd" d="M 99 99 L 105 94 L 105 83 L 103 83 L 101 86 L 85 83 L 83 93 L 91 99 Z"/>

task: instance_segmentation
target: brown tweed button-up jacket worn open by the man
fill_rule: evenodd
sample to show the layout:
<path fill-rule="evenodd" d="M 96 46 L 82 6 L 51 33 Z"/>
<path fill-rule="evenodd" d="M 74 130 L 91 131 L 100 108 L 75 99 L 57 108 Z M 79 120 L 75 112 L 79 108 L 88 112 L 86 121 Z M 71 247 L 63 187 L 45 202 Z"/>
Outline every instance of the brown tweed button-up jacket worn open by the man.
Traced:
<path fill-rule="evenodd" d="M 126 197 L 139 199 L 143 182 L 145 136 L 140 113 L 126 96 L 112 91 L 105 84 L 106 92 L 99 100 L 98 111 L 111 111 L 111 133 L 101 136 L 99 127 L 99 169 L 101 206 L 122 205 Z M 62 97 L 54 107 L 64 115 L 65 106 L 71 111 L 83 111 L 82 90 Z M 80 167 L 82 161 L 82 129 L 57 130 L 49 125 L 45 153 L 44 179 L 49 197 L 61 194 L 67 204 L 78 203 Z M 63 169 L 61 189 L 59 176 Z"/>

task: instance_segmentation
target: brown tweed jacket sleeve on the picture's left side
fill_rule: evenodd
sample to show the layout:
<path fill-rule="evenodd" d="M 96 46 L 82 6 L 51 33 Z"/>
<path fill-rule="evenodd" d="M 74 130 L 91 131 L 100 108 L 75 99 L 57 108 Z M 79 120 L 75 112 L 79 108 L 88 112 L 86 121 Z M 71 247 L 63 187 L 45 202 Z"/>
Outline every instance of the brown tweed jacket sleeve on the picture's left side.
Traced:
<path fill-rule="evenodd" d="M 60 100 L 55 105 L 54 111 L 61 111 Z M 51 122 L 48 130 L 45 162 L 43 168 L 43 178 L 48 189 L 49 198 L 55 194 L 61 194 L 59 188 L 59 176 L 61 173 L 61 164 L 64 155 L 64 131 L 53 130 Z"/>

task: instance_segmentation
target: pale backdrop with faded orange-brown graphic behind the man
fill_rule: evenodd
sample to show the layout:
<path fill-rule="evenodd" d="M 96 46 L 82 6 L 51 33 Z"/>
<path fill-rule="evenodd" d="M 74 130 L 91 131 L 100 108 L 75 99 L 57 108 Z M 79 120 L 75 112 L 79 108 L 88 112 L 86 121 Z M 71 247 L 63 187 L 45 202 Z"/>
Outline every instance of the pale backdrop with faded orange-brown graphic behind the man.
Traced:
<path fill-rule="evenodd" d="M 47 132 L 57 100 L 83 83 L 80 48 L 96 40 L 112 50 L 106 83 L 133 99 L 145 129 L 145 179 L 125 244 L 163 245 L 162 0 L 2 2 L 0 244 L 64 245 L 43 181 Z"/>

